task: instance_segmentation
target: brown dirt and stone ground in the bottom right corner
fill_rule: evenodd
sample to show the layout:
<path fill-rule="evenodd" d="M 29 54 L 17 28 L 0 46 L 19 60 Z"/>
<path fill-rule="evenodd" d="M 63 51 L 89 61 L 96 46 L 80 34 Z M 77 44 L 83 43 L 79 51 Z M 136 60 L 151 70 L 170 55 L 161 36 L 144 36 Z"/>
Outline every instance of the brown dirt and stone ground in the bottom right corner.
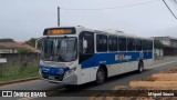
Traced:
<path fill-rule="evenodd" d="M 168 69 L 147 77 L 143 81 L 132 81 L 129 86 L 117 86 L 110 93 L 94 94 L 88 100 L 177 100 L 177 97 L 173 96 L 177 94 L 176 78 L 177 68 Z"/>

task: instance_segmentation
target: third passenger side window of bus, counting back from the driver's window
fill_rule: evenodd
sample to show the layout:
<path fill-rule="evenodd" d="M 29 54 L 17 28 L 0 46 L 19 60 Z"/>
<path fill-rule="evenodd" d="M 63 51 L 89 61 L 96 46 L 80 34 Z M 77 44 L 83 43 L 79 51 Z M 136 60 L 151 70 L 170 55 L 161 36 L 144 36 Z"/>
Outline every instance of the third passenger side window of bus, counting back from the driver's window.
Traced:
<path fill-rule="evenodd" d="M 118 49 L 119 51 L 126 51 L 126 38 L 119 37 L 118 38 Z"/>

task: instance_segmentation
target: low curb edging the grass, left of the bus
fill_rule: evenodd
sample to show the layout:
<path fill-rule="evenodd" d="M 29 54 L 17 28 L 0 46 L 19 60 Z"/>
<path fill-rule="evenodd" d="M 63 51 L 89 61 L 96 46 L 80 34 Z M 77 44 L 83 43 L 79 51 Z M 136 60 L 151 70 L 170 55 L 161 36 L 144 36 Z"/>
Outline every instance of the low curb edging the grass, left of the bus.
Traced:
<path fill-rule="evenodd" d="M 0 82 L 0 87 L 1 86 L 6 86 L 6 84 L 18 83 L 18 82 L 25 82 L 25 81 L 31 81 L 31 80 L 38 80 L 38 79 L 39 79 L 39 77 L 33 77 L 33 78 L 20 79 L 20 80 L 14 80 L 14 81 Z"/>

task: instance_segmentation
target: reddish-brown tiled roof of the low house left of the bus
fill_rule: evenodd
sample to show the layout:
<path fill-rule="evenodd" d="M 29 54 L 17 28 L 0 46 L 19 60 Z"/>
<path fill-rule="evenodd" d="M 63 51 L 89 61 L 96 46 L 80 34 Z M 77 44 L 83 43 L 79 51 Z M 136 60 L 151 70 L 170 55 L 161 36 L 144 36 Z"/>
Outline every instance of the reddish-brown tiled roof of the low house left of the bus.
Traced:
<path fill-rule="evenodd" d="M 33 52 L 40 52 L 40 50 L 25 42 L 0 42 L 0 48 L 3 49 L 31 49 Z"/>

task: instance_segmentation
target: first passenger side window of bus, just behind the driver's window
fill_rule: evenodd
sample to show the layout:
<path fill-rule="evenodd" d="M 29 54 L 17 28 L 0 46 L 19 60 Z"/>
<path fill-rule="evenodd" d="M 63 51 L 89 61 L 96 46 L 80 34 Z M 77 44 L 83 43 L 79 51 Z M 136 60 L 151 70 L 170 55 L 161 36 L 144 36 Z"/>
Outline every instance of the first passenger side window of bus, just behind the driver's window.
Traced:
<path fill-rule="evenodd" d="M 96 51 L 97 52 L 107 51 L 107 36 L 96 34 Z"/>

